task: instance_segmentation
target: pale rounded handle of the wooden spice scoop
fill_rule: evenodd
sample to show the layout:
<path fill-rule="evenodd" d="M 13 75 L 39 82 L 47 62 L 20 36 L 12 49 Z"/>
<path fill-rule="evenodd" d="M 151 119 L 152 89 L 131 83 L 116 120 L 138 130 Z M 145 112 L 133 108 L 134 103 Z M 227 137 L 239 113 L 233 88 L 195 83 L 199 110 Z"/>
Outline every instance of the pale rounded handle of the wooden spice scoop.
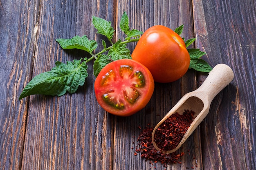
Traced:
<path fill-rule="evenodd" d="M 200 92 L 202 95 L 207 94 L 209 101 L 212 101 L 233 78 L 234 72 L 229 66 L 226 64 L 217 64 L 196 91 Z"/>

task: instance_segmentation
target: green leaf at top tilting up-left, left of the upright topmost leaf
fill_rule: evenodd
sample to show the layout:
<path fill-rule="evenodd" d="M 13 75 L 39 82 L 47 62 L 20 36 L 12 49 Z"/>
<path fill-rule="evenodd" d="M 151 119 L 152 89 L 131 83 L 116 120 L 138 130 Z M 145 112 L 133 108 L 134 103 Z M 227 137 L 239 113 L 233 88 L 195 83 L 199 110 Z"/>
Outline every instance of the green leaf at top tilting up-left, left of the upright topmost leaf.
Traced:
<path fill-rule="evenodd" d="M 108 40 L 112 40 L 115 30 L 111 26 L 110 21 L 106 21 L 103 18 L 93 16 L 92 24 L 98 30 L 97 33 L 105 35 L 108 38 Z"/>

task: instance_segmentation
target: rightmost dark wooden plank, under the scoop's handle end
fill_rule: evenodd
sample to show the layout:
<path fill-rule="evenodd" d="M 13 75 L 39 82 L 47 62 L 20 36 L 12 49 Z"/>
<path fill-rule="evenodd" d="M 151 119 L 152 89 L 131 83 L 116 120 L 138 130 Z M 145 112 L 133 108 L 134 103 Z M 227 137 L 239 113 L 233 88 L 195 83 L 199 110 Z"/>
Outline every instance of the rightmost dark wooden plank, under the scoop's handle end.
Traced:
<path fill-rule="evenodd" d="M 256 11 L 252 3 L 193 1 L 197 46 L 207 52 L 204 59 L 212 66 L 225 63 L 235 73 L 233 82 L 213 101 L 203 124 L 204 169 L 256 168 Z"/>

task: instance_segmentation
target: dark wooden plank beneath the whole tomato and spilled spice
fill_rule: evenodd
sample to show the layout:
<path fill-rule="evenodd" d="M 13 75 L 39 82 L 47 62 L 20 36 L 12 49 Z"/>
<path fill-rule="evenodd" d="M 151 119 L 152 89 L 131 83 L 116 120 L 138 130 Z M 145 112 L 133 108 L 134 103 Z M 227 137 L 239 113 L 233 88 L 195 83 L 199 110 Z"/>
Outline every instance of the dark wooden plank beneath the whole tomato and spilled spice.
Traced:
<path fill-rule="evenodd" d="M 191 15 L 191 3 L 188 1 L 117 1 L 117 22 L 120 21 L 124 11 L 130 18 L 131 29 L 145 31 L 150 26 L 162 24 L 175 29 L 184 24 L 183 36 L 186 39 L 193 38 L 193 20 Z M 117 23 L 117 38 L 124 38 Z M 132 51 L 136 43 L 128 44 Z M 155 84 L 155 91 L 149 104 L 139 113 L 130 117 L 115 118 L 114 146 L 114 169 L 165 169 L 161 163 L 150 163 L 140 158 L 140 154 L 134 156 L 137 138 L 142 129 L 151 123 L 155 126 L 177 101 L 189 91 L 195 90 L 194 72 L 189 71 L 182 79 L 168 84 Z M 140 127 L 140 128 L 138 128 Z M 182 164 L 168 165 L 168 169 L 186 169 L 195 167 L 197 161 L 198 169 L 202 167 L 200 147 L 200 131 L 197 129 L 183 146 L 180 152 L 185 152 Z M 134 149 L 131 149 L 131 148 Z M 187 152 L 190 150 L 190 152 Z M 125 156 L 124 156 L 125 155 Z M 195 157 L 195 158 L 193 158 Z"/>

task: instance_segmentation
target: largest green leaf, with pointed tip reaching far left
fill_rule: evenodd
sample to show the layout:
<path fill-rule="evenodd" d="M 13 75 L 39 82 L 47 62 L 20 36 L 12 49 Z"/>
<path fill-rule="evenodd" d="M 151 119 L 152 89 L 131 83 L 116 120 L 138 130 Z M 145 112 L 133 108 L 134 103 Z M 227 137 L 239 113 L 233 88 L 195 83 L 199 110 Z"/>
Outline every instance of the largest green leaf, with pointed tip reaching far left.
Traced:
<path fill-rule="evenodd" d="M 51 71 L 36 75 L 25 86 L 19 99 L 29 95 L 64 95 L 67 91 L 75 93 L 79 86 L 83 86 L 85 78 L 88 77 L 87 65 L 81 60 L 74 62 L 56 62 L 55 67 Z"/>

